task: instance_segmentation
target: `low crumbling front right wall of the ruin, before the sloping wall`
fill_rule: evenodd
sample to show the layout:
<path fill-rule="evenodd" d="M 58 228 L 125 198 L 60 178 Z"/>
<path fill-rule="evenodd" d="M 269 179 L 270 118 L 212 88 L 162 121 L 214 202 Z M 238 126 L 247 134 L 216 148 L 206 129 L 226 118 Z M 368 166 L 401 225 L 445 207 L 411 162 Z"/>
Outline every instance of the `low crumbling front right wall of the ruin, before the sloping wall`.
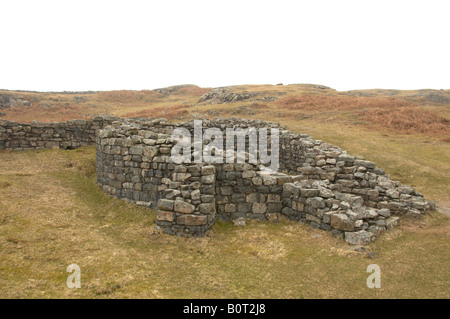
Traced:
<path fill-rule="evenodd" d="M 283 187 L 282 215 L 331 231 L 350 244 L 367 245 L 397 225 L 389 208 L 370 208 L 361 196 L 333 192 L 322 181 L 287 183 Z"/>

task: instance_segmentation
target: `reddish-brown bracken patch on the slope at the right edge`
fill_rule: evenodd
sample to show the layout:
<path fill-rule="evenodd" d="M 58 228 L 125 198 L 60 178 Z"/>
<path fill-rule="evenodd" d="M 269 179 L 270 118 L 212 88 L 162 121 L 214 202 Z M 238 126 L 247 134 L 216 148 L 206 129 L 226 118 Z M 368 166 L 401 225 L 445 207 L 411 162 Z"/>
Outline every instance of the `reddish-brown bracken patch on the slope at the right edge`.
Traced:
<path fill-rule="evenodd" d="M 450 120 L 412 107 L 376 108 L 358 112 L 361 119 L 400 134 L 450 134 Z"/>

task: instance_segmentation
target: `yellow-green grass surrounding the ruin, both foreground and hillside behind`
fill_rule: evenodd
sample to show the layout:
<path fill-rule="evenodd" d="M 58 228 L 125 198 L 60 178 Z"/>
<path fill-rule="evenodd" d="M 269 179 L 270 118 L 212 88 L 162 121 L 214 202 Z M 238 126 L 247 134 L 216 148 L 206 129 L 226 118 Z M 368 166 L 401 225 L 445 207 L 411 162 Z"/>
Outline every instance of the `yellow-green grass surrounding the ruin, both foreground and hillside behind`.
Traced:
<path fill-rule="evenodd" d="M 287 107 L 279 102 L 284 97 L 271 103 L 198 105 L 206 90 L 191 88 L 164 97 L 153 91 L 118 91 L 103 97 L 96 93 L 95 99 L 97 108 L 109 107 L 117 115 L 151 113 L 153 108 L 160 108 L 155 114 L 164 113 L 167 107 L 176 120 L 219 115 L 279 121 L 375 161 L 426 199 L 450 206 L 448 106 L 404 99 L 387 102 L 395 104 L 391 107 L 370 101 L 355 108 L 354 101 L 367 101 L 338 97 L 322 99 L 322 104 L 331 103 L 326 109 L 302 109 L 310 100 L 304 94 L 339 94 L 307 86 L 233 89 L 263 92 L 261 96 L 292 90 L 287 96 L 302 98 Z M 145 102 L 155 98 L 160 101 Z M 144 102 L 135 102 L 140 100 Z M 336 102 L 342 100 L 347 102 Z M 437 119 L 423 132 L 412 133 L 358 115 L 364 108 L 404 107 L 432 112 Z M 19 110 L 5 112 L 5 118 L 34 116 Z M 55 114 L 55 120 L 67 119 L 60 116 Z M 443 128 L 436 128 L 439 123 Z M 450 219 L 438 211 L 418 220 L 402 219 L 399 227 L 368 246 L 376 259 L 351 250 L 328 232 L 291 221 L 245 227 L 218 223 L 208 237 L 185 239 L 156 231 L 154 211 L 107 196 L 96 185 L 93 147 L 0 151 L 0 163 L 0 298 L 450 298 Z M 66 287 L 66 268 L 72 263 L 81 268 L 81 289 Z M 381 268 L 380 289 L 366 286 L 370 264 Z"/>

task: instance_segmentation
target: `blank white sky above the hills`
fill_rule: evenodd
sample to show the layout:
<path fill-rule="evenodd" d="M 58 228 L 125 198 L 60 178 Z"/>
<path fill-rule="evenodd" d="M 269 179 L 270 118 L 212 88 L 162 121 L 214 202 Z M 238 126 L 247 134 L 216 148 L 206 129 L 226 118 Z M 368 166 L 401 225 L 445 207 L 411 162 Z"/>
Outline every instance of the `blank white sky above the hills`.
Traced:
<path fill-rule="evenodd" d="M 450 1 L 0 2 L 0 88 L 450 89 Z"/>

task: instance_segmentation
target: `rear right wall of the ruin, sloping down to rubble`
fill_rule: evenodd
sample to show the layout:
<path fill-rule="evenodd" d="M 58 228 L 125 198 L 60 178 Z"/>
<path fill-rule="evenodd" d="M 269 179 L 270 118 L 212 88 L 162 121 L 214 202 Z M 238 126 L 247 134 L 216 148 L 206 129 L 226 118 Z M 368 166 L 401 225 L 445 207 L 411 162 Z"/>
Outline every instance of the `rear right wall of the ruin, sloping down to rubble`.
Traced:
<path fill-rule="evenodd" d="M 418 215 L 430 208 L 422 194 L 392 181 L 374 162 L 351 156 L 308 135 L 283 133 L 280 138 L 282 172 L 300 174 L 301 180 L 329 181 L 333 192 L 360 196 L 366 206 L 389 208 L 398 215 Z"/>

